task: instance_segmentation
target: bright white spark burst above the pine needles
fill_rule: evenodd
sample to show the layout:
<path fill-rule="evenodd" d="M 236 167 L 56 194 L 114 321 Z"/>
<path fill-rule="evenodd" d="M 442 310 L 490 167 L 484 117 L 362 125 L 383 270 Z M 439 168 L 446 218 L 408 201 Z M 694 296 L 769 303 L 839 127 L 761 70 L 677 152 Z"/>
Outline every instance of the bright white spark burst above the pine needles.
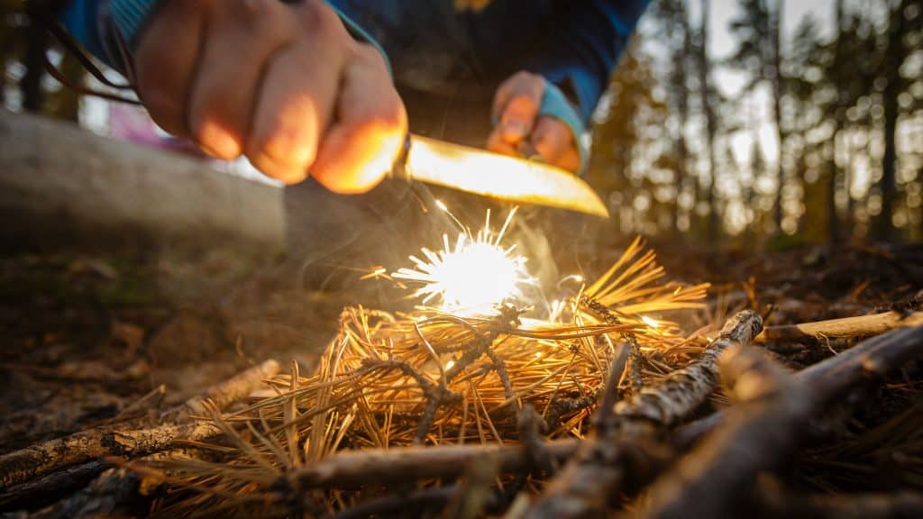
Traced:
<path fill-rule="evenodd" d="M 438 201 L 437 206 L 464 229 L 445 204 Z M 509 211 L 494 233 L 488 210 L 484 228 L 476 235 L 464 230 L 454 242 L 443 235 L 441 250 L 421 249 L 423 258 L 410 257 L 414 268 L 403 268 L 392 277 L 419 285 L 414 296 L 422 297 L 424 305 L 460 315 L 489 314 L 497 305 L 521 298 L 522 286 L 534 283 L 526 272 L 526 259 L 515 245 L 500 246 L 515 213 L 516 208 Z"/>

